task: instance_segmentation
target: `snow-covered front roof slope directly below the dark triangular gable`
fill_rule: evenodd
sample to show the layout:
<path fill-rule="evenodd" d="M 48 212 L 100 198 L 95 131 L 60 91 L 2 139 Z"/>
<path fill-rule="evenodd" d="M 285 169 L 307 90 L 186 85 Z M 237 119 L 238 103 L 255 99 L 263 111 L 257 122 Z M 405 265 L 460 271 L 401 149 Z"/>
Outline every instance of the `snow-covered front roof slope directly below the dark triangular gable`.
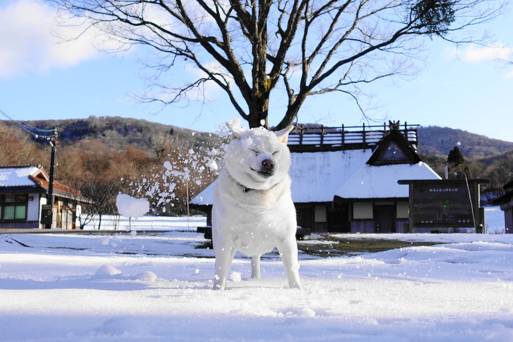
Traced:
<path fill-rule="evenodd" d="M 341 198 L 407 198 L 408 185 L 400 179 L 442 179 L 427 164 L 394 164 L 372 166 L 365 164 L 337 192 Z"/>

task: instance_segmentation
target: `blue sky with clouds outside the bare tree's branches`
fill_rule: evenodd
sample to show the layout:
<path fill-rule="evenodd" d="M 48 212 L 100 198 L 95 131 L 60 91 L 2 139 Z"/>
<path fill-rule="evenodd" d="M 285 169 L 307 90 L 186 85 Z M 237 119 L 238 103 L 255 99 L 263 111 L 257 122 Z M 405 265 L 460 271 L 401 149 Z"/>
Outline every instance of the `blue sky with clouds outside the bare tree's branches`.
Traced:
<path fill-rule="evenodd" d="M 51 32 L 62 29 L 55 26 L 54 14 L 34 0 L 0 3 L 0 108 L 10 115 L 21 120 L 117 115 L 211 132 L 238 116 L 226 96 L 215 90 L 207 103 L 193 101 L 164 109 L 137 104 L 131 94 L 144 90 L 138 62 L 143 51 L 98 52 L 89 35 L 58 44 Z M 511 19 L 510 10 L 481 27 L 494 34 L 493 49 L 456 50 L 436 39 L 426 42 L 425 63 L 417 64 L 416 77 L 388 79 L 365 89 L 373 94 L 363 99 L 373 108 L 367 114 L 378 123 L 390 119 L 450 127 L 513 142 L 513 65 L 495 58 L 513 55 Z M 182 76 L 177 72 L 172 77 Z M 271 125 L 278 123 L 281 113 L 280 106 L 270 108 Z M 356 126 L 363 118 L 352 99 L 329 94 L 307 100 L 299 122 Z"/>

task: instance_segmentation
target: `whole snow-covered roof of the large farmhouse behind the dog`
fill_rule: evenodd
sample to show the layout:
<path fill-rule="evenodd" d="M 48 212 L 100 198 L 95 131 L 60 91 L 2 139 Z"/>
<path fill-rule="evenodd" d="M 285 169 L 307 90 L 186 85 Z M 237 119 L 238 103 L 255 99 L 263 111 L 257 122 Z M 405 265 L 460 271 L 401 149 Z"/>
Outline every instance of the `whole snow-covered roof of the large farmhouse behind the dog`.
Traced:
<path fill-rule="evenodd" d="M 294 203 L 332 202 L 341 198 L 407 198 L 400 179 L 441 179 L 427 164 L 368 165 L 371 150 L 292 152 L 290 177 Z M 191 200 L 212 205 L 215 182 Z"/>

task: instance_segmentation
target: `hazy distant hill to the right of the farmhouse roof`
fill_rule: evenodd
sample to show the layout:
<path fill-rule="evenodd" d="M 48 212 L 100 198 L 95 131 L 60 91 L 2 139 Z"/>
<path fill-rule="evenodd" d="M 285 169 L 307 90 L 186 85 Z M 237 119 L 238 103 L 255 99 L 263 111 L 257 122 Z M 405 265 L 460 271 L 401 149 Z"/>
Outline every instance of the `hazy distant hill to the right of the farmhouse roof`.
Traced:
<path fill-rule="evenodd" d="M 447 156 L 449 151 L 458 146 L 465 158 L 486 158 L 506 152 L 513 152 L 513 143 L 490 139 L 484 135 L 473 134 L 460 129 L 428 126 L 417 131 L 419 153 Z"/>

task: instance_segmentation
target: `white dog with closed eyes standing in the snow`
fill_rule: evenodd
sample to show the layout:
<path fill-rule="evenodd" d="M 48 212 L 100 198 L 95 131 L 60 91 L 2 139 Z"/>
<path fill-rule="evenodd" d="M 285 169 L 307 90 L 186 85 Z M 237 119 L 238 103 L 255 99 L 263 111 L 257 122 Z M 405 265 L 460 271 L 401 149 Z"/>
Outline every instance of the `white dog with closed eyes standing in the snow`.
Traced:
<path fill-rule="evenodd" d="M 212 208 L 214 289 L 224 290 L 235 252 L 251 256 L 251 277 L 260 278 L 260 256 L 278 248 L 290 288 L 299 279 L 297 222 L 290 195 L 288 133 L 226 124 L 232 131 Z"/>

